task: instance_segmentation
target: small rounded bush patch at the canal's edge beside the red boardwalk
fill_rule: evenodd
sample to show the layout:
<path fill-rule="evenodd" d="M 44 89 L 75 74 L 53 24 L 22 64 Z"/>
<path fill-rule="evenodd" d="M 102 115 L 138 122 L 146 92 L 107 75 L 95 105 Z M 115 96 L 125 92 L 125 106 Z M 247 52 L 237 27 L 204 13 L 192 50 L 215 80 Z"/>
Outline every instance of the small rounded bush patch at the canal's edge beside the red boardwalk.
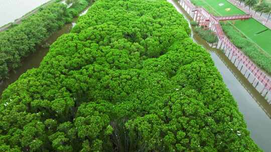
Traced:
<path fill-rule="evenodd" d="M 209 43 L 214 43 L 218 41 L 216 34 L 210 29 L 204 30 L 202 27 L 195 27 L 194 30 Z"/>

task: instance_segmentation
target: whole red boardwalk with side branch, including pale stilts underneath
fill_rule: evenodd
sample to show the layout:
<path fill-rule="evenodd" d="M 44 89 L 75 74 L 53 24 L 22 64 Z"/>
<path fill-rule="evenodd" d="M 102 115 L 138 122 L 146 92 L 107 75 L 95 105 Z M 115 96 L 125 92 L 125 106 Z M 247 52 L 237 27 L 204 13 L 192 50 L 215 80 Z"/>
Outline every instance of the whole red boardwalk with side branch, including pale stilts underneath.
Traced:
<path fill-rule="evenodd" d="M 197 7 L 189 0 L 179 0 L 185 11 L 197 21 L 200 26 L 205 29 L 211 29 L 218 36 L 218 43 L 213 47 L 224 50 L 226 56 L 241 71 L 249 82 L 271 104 L 271 81 L 268 75 L 261 71 L 240 49 L 238 49 L 225 35 L 219 23 L 220 20 L 248 19 L 252 17 L 250 14 L 235 16 L 213 16 L 205 8 Z"/>

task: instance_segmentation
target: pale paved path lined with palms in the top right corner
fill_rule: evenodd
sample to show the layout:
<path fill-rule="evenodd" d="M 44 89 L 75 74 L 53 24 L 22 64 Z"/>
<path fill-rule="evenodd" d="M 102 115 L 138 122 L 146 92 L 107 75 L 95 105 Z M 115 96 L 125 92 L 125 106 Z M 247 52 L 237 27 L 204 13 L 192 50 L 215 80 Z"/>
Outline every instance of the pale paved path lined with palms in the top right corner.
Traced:
<path fill-rule="evenodd" d="M 245 13 L 251 14 L 254 19 L 258 20 L 260 23 L 271 29 L 271 20 L 270 20 L 271 17 L 269 18 L 268 22 L 266 22 L 267 16 L 265 16 L 264 14 L 260 16 L 260 13 L 258 12 L 255 13 L 255 11 L 252 9 L 248 10 L 248 6 L 245 6 L 244 3 L 240 4 L 240 2 L 237 0 L 228 0 L 228 1 L 234 4 L 239 9 L 243 10 Z"/>

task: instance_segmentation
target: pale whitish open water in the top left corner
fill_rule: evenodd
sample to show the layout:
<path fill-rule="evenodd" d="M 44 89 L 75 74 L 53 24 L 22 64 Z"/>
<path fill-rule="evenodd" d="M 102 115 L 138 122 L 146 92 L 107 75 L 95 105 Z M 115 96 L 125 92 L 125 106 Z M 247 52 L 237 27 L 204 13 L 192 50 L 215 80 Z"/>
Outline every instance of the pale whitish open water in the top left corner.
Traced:
<path fill-rule="evenodd" d="M 0 27 L 50 0 L 0 0 Z"/>

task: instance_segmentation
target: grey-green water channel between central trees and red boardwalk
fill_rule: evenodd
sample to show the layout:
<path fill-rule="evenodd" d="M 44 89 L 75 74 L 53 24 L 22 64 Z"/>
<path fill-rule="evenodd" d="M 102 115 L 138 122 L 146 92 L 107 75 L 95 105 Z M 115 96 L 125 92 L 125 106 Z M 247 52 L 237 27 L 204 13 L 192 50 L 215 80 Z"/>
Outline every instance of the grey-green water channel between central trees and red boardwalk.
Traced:
<path fill-rule="evenodd" d="M 184 14 L 187 20 L 192 20 L 192 17 L 178 2 L 174 0 L 168 1 L 180 13 Z M 271 105 L 267 103 L 266 99 L 236 68 L 222 50 L 209 46 L 204 39 L 194 32 L 193 27 L 191 29 L 193 40 L 209 51 L 224 82 L 236 100 L 239 111 L 244 115 L 250 136 L 261 149 L 269 151 L 271 149 Z"/>

